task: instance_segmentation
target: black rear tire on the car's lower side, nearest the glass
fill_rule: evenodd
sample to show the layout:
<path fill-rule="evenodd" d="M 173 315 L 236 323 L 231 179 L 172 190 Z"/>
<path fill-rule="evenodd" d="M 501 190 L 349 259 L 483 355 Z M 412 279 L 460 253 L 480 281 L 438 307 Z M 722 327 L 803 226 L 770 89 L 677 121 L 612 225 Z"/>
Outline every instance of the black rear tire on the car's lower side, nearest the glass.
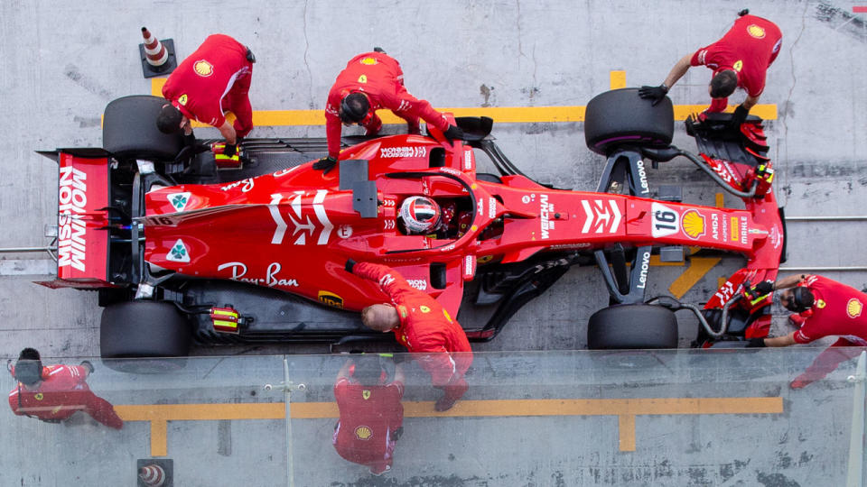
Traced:
<path fill-rule="evenodd" d="M 190 353 L 189 322 L 171 303 L 126 301 L 102 310 L 100 354 L 107 366 L 123 372 L 163 372 L 181 368 Z M 175 360 L 108 360 L 108 359 Z"/>

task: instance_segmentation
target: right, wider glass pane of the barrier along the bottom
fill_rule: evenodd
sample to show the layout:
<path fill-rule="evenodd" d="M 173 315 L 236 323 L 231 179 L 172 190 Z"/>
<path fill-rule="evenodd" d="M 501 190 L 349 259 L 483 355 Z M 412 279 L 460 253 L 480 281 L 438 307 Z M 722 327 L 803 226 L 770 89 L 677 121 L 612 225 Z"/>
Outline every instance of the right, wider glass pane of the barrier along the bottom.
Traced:
<path fill-rule="evenodd" d="M 306 386 L 292 396 L 294 484 L 841 485 L 855 362 L 789 386 L 821 351 L 478 353 L 469 391 L 444 413 L 430 376 L 405 362 L 403 436 L 378 480 L 370 467 L 381 464 L 351 463 L 332 446 L 335 378 L 356 356 L 293 356 L 289 374 Z M 381 445 L 364 414 L 389 410 L 365 413 L 364 390 L 361 412 L 340 421 L 358 431 L 346 445 L 362 451 Z"/>

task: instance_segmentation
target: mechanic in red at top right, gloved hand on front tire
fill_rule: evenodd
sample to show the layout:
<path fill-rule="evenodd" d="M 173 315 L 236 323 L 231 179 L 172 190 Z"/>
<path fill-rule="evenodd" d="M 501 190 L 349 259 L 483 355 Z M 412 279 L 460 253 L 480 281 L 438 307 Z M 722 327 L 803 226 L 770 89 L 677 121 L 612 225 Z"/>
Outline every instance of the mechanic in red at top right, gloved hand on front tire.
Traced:
<path fill-rule="evenodd" d="M 668 93 L 678 79 L 692 66 L 704 64 L 713 69 L 713 78 L 708 92 L 713 98 L 707 112 L 722 112 L 728 106 L 728 96 L 736 87 L 747 92 L 747 98 L 734 110 L 732 124 L 741 124 L 750 108 L 759 101 L 765 89 L 765 73 L 777 59 L 782 33 L 779 27 L 767 19 L 749 15 L 743 10 L 722 39 L 703 47 L 677 61 L 668 77 L 658 87 L 641 87 L 639 96 L 650 98 L 656 105 Z"/>

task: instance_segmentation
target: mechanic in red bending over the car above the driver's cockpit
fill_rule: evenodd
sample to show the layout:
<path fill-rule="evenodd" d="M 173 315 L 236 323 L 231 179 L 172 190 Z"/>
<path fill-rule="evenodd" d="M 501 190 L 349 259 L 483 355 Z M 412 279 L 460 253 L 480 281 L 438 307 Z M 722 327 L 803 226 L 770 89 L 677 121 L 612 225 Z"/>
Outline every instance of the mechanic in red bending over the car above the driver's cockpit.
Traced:
<path fill-rule="evenodd" d="M 406 120 L 409 133 L 421 133 L 419 117 L 443 131 L 449 141 L 460 139 L 463 132 L 451 125 L 430 103 L 409 94 L 404 87 L 404 72 L 400 64 L 385 51 L 376 48 L 352 58 L 340 71 L 328 93 L 325 105 L 325 130 L 328 136 L 328 157 L 314 169 L 330 170 L 340 155 L 340 124 L 359 124 L 366 135 L 375 135 L 382 128 L 377 110 L 387 108 Z"/>

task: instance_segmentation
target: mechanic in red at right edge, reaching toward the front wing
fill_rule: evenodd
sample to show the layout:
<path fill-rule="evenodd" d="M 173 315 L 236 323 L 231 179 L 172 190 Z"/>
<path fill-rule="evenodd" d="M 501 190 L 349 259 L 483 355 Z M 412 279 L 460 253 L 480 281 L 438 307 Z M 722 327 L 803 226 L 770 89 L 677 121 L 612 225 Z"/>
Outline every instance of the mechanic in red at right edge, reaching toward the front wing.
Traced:
<path fill-rule="evenodd" d="M 792 381 L 793 389 L 822 379 L 840 363 L 861 354 L 860 349 L 844 347 L 867 346 L 867 313 L 864 310 L 867 294 L 858 289 L 811 274 L 788 276 L 776 283 L 761 282 L 754 289 L 758 289 L 756 294 L 784 289 L 779 294 L 779 302 L 793 312 L 788 319 L 800 328 L 784 336 L 752 338 L 750 346 L 808 344 L 825 336 L 840 336 Z"/>

